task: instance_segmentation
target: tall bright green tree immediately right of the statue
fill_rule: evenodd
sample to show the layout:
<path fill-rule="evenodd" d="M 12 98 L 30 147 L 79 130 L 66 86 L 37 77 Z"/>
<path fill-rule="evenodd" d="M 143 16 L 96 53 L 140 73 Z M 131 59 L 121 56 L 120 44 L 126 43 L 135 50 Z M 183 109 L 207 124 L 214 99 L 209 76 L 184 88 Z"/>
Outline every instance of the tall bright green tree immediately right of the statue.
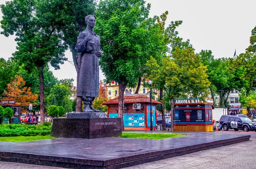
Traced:
<path fill-rule="evenodd" d="M 96 11 L 95 31 L 104 51 L 99 64 L 105 82 L 118 82 L 121 118 L 125 88 L 137 85 L 149 56 L 160 56 L 164 46 L 155 19 L 148 18 L 149 9 L 144 0 L 104 0 Z"/>

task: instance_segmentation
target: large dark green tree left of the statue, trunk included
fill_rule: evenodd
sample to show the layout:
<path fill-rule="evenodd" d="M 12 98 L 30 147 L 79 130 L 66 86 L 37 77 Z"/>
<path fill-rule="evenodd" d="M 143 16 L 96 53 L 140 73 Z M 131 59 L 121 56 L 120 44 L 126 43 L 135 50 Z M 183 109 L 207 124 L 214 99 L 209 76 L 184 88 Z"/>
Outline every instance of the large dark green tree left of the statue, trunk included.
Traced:
<path fill-rule="evenodd" d="M 55 69 L 63 64 L 67 46 L 61 41 L 57 30 L 58 8 L 55 0 L 12 0 L 0 6 L 3 20 L 0 21 L 8 37 L 15 33 L 17 51 L 15 59 L 26 68 L 38 69 L 40 78 L 41 123 L 44 122 L 44 67 L 50 63 Z"/>

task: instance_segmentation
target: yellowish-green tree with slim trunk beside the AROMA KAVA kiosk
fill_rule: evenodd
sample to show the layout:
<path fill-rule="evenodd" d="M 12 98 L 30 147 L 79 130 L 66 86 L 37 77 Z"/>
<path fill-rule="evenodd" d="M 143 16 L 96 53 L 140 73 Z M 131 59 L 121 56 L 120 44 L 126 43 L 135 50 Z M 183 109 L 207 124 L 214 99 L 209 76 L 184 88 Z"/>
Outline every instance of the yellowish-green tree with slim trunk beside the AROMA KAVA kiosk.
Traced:
<path fill-rule="evenodd" d="M 194 49 L 189 46 L 175 48 L 172 51 L 172 57 L 163 58 L 160 63 L 151 57 L 147 66 L 147 77 L 153 82 L 151 87 L 163 86 L 166 99 L 172 103 L 172 117 L 174 117 L 175 98 L 186 94 L 202 100 L 208 95 L 210 83 L 207 79 L 207 68 L 200 62 L 200 56 L 195 54 Z"/>

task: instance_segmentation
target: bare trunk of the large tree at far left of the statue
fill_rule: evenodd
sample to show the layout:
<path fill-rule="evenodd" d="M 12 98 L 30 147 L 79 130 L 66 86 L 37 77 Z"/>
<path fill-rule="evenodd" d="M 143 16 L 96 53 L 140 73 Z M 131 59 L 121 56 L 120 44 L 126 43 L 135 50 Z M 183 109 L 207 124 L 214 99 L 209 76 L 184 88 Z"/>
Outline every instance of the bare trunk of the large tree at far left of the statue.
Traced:
<path fill-rule="evenodd" d="M 40 124 L 44 123 L 44 65 L 37 66 L 40 76 Z"/>

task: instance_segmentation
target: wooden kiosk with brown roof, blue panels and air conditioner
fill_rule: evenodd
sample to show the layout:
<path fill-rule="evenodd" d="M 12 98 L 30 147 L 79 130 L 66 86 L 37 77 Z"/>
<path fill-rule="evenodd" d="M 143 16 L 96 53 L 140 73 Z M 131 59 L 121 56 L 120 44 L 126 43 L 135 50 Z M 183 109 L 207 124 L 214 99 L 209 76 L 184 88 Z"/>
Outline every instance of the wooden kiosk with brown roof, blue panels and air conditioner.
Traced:
<path fill-rule="evenodd" d="M 108 107 L 108 118 L 118 117 L 118 97 L 103 103 Z M 156 108 L 159 101 L 152 100 L 152 127 L 156 130 Z M 124 96 L 123 123 L 125 130 L 150 130 L 150 98 L 146 95 Z"/>

